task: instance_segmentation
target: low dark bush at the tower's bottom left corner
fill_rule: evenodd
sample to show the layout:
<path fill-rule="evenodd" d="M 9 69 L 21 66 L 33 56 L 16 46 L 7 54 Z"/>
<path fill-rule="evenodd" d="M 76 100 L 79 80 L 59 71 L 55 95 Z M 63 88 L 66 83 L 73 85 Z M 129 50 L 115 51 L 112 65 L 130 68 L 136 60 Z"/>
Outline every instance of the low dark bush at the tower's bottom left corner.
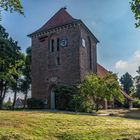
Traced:
<path fill-rule="evenodd" d="M 42 109 L 44 102 L 41 99 L 30 98 L 27 100 L 27 106 L 29 109 Z"/>

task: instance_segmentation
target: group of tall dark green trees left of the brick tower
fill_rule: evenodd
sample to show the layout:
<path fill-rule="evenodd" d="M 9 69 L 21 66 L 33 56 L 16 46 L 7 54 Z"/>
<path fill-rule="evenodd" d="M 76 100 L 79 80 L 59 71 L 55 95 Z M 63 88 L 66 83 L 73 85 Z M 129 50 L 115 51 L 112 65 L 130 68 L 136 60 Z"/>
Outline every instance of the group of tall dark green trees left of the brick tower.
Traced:
<path fill-rule="evenodd" d="M 27 95 L 30 85 L 31 48 L 27 49 L 26 55 L 22 54 L 17 42 L 0 25 L 0 108 L 9 88 L 14 92 L 14 108 L 17 92 Z"/>

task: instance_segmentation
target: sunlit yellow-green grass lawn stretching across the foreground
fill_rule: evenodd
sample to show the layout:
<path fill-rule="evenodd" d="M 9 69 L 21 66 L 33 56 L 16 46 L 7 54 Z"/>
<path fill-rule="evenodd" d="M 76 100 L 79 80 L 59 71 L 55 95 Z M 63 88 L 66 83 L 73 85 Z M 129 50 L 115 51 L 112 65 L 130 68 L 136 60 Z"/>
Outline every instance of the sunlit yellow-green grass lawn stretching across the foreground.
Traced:
<path fill-rule="evenodd" d="M 51 112 L 0 111 L 0 140 L 140 138 L 140 120 Z"/>

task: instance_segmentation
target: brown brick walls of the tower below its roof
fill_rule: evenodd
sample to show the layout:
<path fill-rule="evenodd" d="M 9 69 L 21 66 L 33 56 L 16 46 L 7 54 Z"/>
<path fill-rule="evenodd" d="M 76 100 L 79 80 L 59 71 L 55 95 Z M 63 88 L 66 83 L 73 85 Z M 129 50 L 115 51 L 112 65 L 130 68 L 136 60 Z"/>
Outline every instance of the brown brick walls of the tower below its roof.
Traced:
<path fill-rule="evenodd" d="M 57 39 L 66 38 L 67 47 L 57 51 Z M 85 40 L 85 46 L 82 45 Z M 54 51 L 50 52 L 50 41 Z M 57 58 L 60 65 L 57 65 Z M 45 36 L 32 37 L 32 97 L 47 99 L 50 108 L 50 91 L 55 85 L 74 85 L 86 74 L 96 73 L 96 43 L 80 24 L 62 27 Z"/>

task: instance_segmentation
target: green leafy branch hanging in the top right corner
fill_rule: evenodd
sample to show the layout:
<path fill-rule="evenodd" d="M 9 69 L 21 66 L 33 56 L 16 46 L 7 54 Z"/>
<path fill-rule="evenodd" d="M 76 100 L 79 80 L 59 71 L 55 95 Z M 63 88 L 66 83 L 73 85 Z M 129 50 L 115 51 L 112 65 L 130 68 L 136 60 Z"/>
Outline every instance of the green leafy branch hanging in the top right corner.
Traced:
<path fill-rule="evenodd" d="M 134 17 L 136 19 L 136 27 L 140 26 L 140 0 L 132 0 L 131 10 L 134 13 Z"/>

